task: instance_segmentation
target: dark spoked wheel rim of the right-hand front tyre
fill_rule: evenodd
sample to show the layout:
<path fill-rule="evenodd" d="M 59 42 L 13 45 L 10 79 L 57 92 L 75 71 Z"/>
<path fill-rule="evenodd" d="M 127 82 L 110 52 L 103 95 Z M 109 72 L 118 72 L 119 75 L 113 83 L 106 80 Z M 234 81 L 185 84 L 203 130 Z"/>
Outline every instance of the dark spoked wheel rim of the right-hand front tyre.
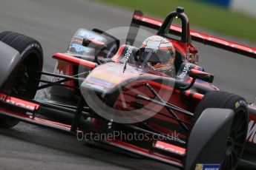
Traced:
<path fill-rule="evenodd" d="M 237 112 L 232 123 L 232 130 L 229 134 L 226 155 L 223 161 L 225 170 L 235 169 L 238 160 L 243 154 L 244 144 L 246 142 L 247 133 L 247 117 L 243 111 Z"/>

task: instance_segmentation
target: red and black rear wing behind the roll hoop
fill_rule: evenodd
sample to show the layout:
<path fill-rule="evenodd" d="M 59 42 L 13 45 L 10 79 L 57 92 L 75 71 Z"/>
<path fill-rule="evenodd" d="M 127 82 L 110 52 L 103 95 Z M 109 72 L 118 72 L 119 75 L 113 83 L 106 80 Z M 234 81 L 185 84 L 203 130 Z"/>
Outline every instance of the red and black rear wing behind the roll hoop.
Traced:
<path fill-rule="evenodd" d="M 162 24 L 163 24 L 163 21 L 150 18 L 148 16 L 143 16 L 142 11 L 135 10 L 134 16 L 131 21 L 131 27 L 128 33 L 128 38 L 126 40 L 126 43 L 130 45 L 134 44 L 134 40 L 137 36 L 140 26 L 149 27 L 154 30 L 160 30 L 160 27 Z M 182 28 L 172 24 L 170 32 L 176 35 L 181 35 Z M 218 47 L 220 49 L 228 50 L 230 52 L 235 52 L 241 55 L 246 55 L 250 58 L 256 58 L 256 48 L 248 47 L 246 45 L 238 44 L 232 41 L 227 41 L 225 39 L 200 33 L 195 30 L 190 30 L 190 35 L 193 41 L 210 45 L 212 47 Z"/>

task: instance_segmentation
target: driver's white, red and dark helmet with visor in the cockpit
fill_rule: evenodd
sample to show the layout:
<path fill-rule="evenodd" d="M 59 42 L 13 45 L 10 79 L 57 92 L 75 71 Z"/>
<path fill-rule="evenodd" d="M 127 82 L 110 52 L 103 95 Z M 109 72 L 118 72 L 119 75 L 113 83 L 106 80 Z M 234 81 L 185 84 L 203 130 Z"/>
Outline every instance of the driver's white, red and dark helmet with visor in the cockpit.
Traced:
<path fill-rule="evenodd" d="M 137 59 L 159 72 L 174 77 L 175 49 L 174 45 L 158 35 L 151 36 L 142 43 Z"/>

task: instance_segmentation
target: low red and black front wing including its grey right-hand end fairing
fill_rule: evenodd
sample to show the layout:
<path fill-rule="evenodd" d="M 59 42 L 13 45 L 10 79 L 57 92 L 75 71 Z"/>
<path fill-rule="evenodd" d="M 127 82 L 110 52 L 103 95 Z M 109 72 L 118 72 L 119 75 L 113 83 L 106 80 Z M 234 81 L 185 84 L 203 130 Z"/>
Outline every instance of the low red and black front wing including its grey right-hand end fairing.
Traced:
<path fill-rule="evenodd" d="M 65 106 L 58 106 L 54 105 L 53 103 L 26 101 L 24 99 L 15 98 L 13 96 L 8 96 L 5 94 L 0 94 L 0 96 L 1 115 L 6 115 L 11 118 L 16 118 L 24 122 L 32 123 L 39 126 L 47 126 L 49 128 L 59 129 L 65 132 L 71 132 L 75 135 L 79 132 L 91 132 L 90 129 L 79 128 L 79 119 L 77 119 L 77 117 L 86 114 L 85 112 L 83 112 L 83 109 L 81 109 L 81 106 L 77 106 L 77 108 L 73 110 L 70 108 L 66 108 L 67 112 L 72 111 L 74 114 L 72 123 L 65 124 L 59 123 L 58 121 L 47 120 L 47 118 L 42 118 L 39 115 L 41 107 L 48 107 L 50 109 L 65 111 Z M 81 102 L 80 104 L 82 105 L 83 102 Z M 209 120 L 212 121 L 212 115 L 215 115 L 213 114 L 213 112 L 223 112 L 223 114 L 220 115 L 226 115 L 226 120 L 223 120 L 222 116 L 220 116 L 220 118 L 214 116 L 214 119 L 216 120 L 214 121 L 215 123 L 211 124 L 211 127 L 209 127 L 207 131 L 203 131 L 202 129 L 206 129 L 203 127 L 209 125 Z M 163 163 L 168 163 L 171 166 L 176 166 L 180 169 L 195 169 L 195 167 L 199 165 L 220 166 L 222 162 L 221 159 L 223 157 L 223 149 L 226 146 L 226 137 L 229 134 L 229 130 L 232 124 L 232 118 L 234 117 L 234 112 L 228 109 L 208 109 L 203 112 L 201 117 L 202 118 L 200 118 L 200 121 L 196 123 L 193 129 L 191 129 L 188 141 L 186 141 L 186 143 L 183 143 L 183 146 L 171 144 L 165 140 L 154 140 L 153 142 L 151 141 L 151 145 L 148 148 L 142 148 L 134 143 L 129 143 L 128 141 L 116 139 L 100 140 L 94 142 L 104 143 L 106 145 L 114 146 L 119 149 L 124 149 L 134 154 L 140 154 L 144 157 L 148 157 L 150 159 L 157 160 Z M 129 129 L 133 129 L 134 131 L 141 132 L 143 130 L 132 125 L 125 126 Z M 141 142 L 148 143 L 148 141 Z M 209 155 L 209 153 L 211 153 L 211 155 Z"/>

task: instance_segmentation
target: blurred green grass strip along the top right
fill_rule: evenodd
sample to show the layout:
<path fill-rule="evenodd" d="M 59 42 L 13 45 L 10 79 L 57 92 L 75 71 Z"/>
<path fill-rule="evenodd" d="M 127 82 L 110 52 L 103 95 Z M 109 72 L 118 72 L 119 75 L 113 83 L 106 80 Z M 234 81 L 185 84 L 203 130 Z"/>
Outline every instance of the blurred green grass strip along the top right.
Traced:
<path fill-rule="evenodd" d="M 256 18 L 228 8 L 189 0 L 99 0 L 102 2 L 142 10 L 151 15 L 165 17 L 176 7 L 185 7 L 190 23 L 217 33 L 245 38 L 256 42 Z M 242 0 L 241 0 L 242 1 Z"/>

